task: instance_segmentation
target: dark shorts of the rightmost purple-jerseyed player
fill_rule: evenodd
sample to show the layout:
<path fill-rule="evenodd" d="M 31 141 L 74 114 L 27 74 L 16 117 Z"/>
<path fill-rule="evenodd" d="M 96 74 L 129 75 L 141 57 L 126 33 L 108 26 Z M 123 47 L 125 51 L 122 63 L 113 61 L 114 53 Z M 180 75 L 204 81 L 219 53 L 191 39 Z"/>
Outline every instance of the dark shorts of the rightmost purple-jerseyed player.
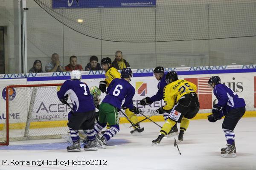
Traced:
<path fill-rule="evenodd" d="M 238 121 L 244 116 L 245 107 L 235 108 L 227 112 L 222 123 L 222 129 L 234 130 Z"/>

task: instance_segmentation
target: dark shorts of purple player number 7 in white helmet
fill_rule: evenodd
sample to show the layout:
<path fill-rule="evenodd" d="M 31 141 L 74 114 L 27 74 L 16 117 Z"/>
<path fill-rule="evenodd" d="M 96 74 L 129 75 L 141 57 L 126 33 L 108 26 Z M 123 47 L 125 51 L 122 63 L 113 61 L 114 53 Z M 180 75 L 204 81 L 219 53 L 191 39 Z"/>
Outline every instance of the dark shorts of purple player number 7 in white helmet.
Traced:
<path fill-rule="evenodd" d="M 73 130 L 87 130 L 94 129 L 95 123 L 95 109 L 85 113 L 72 113 L 70 114 L 67 126 Z"/>

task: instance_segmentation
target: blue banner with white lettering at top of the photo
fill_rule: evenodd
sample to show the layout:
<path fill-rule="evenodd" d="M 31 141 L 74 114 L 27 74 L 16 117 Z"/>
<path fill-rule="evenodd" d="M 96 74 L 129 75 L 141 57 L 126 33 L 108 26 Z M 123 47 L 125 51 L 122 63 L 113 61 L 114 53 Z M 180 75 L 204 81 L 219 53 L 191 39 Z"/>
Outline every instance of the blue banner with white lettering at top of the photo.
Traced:
<path fill-rule="evenodd" d="M 151 7 L 157 0 L 52 0 L 52 8 Z"/>

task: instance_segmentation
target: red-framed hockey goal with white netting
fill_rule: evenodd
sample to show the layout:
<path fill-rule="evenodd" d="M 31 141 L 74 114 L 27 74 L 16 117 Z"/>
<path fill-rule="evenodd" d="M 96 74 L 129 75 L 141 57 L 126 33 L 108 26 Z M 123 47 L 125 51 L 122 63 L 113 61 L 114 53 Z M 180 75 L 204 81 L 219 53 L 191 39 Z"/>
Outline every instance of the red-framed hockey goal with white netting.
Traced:
<path fill-rule="evenodd" d="M 0 145 L 8 145 L 9 141 L 67 135 L 67 114 L 71 109 L 57 97 L 61 85 L 7 86 L 6 119 L 0 124 Z M 67 102 L 71 105 L 70 99 Z"/>

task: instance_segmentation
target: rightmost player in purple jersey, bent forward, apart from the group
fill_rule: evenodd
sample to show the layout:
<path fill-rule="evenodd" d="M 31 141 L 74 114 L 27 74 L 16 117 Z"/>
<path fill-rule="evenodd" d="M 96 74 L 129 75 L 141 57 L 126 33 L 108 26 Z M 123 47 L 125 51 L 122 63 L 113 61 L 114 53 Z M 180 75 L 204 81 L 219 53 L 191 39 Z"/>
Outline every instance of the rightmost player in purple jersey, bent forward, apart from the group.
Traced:
<path fill-rule="evenodd" d="M 218 99 L 218 103 L 212 108 L 212 114 L 208 116 L 209 122 L 216 122 L 225 116 L 222 129 L 226 136 L 227 147 L 221 149 L 221 156 L 236 157 L 235 133 L 233 130 L 245 113 L 244 99 L 239 98 L 229 87 L 221 84 L 221 79 L 218 76 L 212 76 L 208 84 Z"/>

